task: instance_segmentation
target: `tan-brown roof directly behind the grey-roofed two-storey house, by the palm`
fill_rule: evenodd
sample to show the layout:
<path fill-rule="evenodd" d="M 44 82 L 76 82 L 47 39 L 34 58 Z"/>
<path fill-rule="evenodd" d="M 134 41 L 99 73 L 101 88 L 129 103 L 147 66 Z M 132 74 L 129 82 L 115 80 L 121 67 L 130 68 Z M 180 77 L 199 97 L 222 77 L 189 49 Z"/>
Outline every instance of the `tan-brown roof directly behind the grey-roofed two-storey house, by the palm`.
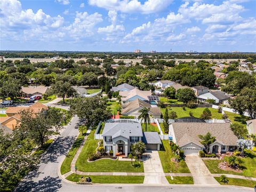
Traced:
<path fill-rule="evenodd" d="M 138 110 L 139 108 L 149 108 L 149 112 L 153 115 L 161 115 L 161 110 L 159 107 L 151 107 L 151 105 L 145 101 L 142 101 L 140 99 L 135 99 L 132 102 L 127 103 L 126 105 L 123 105 L 122 114 L 129 114 L 133 110 Z"/>

